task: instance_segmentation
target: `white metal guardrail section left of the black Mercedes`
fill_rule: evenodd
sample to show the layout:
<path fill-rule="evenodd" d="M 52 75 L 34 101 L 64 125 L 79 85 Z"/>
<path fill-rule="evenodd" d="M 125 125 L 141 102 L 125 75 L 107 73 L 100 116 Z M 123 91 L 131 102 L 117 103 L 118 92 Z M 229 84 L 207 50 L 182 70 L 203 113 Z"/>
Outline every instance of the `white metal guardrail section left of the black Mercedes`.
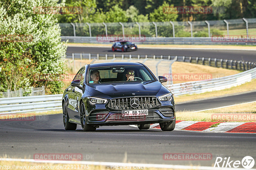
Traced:
<path fill-rule="evenodd" d="M 58 110 L 62 108 L 62 96 L 61 94 L 0 98 L 0 115 Z"/>

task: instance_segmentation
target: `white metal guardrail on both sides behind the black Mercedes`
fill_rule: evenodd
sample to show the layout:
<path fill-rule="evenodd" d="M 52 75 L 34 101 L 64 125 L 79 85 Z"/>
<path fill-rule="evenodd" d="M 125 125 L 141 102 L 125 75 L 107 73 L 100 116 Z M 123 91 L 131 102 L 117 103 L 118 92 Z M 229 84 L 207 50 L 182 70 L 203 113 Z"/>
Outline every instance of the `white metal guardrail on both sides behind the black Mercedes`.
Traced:
<path fill-rule="evenodd" d="M 166 86 L 174 96 L 203 93 L 241 85 L 256 78 L 256 68 L 206 81 L 192 81 Z M 61 109 L 60 95 L 0 98 L 0 115 Z"/>

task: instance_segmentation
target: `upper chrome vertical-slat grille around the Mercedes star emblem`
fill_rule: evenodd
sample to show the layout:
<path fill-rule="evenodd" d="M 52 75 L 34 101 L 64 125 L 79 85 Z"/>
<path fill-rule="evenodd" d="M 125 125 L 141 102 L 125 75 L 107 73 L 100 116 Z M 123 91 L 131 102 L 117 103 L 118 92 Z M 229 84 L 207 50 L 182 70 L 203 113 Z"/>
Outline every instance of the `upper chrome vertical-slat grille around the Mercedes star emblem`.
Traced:
<path fill-rule="evenodd" d="M 140 104 L 137 108 L 132 108 L 130 105 L 130 101 L 133 98 L 112 99 L 108 103 L 108 107 L 115 110 L 132 110 L 132 109 L 152 109 L 159 105 L 159 102 L 156 99 L 156 97 L 136 97 L 139 100 Z"/>

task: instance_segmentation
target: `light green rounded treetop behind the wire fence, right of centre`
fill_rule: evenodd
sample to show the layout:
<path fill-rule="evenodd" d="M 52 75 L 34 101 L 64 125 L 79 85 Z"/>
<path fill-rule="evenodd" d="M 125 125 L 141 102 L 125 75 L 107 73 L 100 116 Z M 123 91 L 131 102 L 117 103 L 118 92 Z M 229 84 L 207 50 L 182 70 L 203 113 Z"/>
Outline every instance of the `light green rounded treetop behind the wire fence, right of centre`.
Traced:
<path fill-rule="evenodd" d="M 150 21 L 155 21 L 155 22 L 164 22 L 164 21 L 176 21 L 178 14 L 175 13 L 164 13 L 163 8 L 166 6 L 171 6 L 166 2 L 164 2 L 163 5 L 159 6 L 157 9 L 154 10 L 154 12 L 149 14 L 149 20 Z"/>

